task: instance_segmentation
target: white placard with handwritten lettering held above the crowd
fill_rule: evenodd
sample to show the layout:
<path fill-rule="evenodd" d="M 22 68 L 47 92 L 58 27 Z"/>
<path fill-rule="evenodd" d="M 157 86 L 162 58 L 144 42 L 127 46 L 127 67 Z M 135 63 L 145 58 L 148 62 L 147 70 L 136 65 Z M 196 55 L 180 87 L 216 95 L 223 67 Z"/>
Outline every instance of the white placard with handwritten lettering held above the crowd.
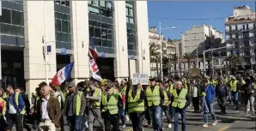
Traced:
<path fill-rule="evenodd" d="M 148 74 L 143 74 L 143 73 L 132 74 L 132 85 L 137 85 L 138 83 L 142 83 L 143 85 L 149 85 Z"/>

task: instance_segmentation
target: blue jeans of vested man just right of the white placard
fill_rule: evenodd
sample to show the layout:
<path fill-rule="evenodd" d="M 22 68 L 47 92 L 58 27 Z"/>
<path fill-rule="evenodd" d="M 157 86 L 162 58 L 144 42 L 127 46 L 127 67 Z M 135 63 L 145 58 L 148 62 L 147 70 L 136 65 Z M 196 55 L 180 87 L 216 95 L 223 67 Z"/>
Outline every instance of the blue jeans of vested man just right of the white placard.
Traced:
<path fill-rule="evenodd" d="M 160 106 L 149 107 L 152 126 L 155 131 L 162 130 L 162 109 Z"/>

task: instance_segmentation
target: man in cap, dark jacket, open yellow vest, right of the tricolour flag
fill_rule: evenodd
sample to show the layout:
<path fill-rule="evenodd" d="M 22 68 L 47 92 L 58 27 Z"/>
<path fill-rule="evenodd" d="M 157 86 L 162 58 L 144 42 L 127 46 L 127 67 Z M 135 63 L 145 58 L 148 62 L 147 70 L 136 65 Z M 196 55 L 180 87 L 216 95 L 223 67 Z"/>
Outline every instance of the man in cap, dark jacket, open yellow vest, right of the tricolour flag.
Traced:
<path fill-rule="evenodd" d="M 83 112 L 86 106 L 86 100 L 83 92 L 76 89 L 73 82 L 68 83 L 70 92 L 67 94 L 64 103 L 64 115 L 70 126 L 70 131 L 82 131 Z"/>

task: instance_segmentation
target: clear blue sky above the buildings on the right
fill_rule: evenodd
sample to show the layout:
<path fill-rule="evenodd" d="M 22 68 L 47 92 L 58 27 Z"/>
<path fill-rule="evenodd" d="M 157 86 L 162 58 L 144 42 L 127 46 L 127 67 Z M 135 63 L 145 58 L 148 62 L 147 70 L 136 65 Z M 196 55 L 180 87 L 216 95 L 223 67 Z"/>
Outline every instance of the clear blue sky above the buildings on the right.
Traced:
<path fill-rule="evenodd" d="M 173 1 L 148 1 L 149 27 L 157 27 L 162 23 L 164 38 L 180 39 L 180 33 L 192 28 L 192 25 L 208 24 L 225 33 L 225 18 L 233 15 L 235 6 L 247 5 L 255 10 L 255 2 L 173 2 Z M 217 18 L 217 19 L 216 19 Z M 185 19 L 185 20 L 177 20 Z M 190 19 L 190 20 L 186 20 Z M 204 19 L 204 20 L 200 20 Z M 205 20 L 208 19 L 208 20 Z M 209 20 L 210 19 L 210 20 Z"/>

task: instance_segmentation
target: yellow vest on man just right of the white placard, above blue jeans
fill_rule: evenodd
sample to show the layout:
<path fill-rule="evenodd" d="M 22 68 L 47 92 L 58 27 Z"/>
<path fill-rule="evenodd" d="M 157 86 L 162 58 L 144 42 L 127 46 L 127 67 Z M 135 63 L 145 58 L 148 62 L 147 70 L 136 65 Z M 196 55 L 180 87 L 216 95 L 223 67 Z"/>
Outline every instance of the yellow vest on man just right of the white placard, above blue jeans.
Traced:
<path fill-rule="evenodd" d="M 157 106 L 160 104 L 160 92 L 159 86 L 155 86 L 153 92 L 151 91 L 150 86 L 146 89 L 146 96 L 148 100 L 148 106 L 151 107 L 152 104 Z"/>

